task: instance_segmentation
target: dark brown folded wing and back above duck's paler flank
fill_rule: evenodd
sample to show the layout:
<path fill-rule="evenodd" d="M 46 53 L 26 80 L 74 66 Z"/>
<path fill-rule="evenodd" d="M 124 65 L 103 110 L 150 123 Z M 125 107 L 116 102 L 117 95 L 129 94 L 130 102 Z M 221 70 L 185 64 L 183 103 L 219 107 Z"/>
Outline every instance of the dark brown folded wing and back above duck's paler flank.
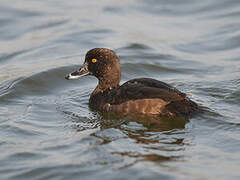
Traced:
<path fill-rule="evenodd" d="M 151 78 L 138 78 L 125 82 L 123 85 L 109 91 L 110 104 L 121 104 L 128 100 L 162 99 L 165 102 L 181 101 L 186 94 L 162 81 Z"/>

